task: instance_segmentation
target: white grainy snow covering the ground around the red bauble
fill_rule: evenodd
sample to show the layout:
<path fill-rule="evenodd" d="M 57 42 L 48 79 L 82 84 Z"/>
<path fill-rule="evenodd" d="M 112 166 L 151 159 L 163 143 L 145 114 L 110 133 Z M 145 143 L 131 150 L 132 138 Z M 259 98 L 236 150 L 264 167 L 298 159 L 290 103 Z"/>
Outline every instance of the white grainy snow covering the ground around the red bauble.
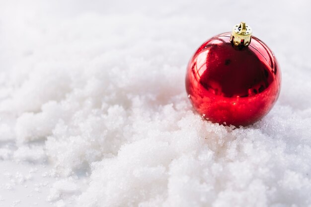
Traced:
<path fill-rule="evenodd" d="M 0 0 L 1 207 L 311 207 L 309 0 Z M 275 53 L 273 110 L 202 121 L 184 89 L 241 20 Z"/>

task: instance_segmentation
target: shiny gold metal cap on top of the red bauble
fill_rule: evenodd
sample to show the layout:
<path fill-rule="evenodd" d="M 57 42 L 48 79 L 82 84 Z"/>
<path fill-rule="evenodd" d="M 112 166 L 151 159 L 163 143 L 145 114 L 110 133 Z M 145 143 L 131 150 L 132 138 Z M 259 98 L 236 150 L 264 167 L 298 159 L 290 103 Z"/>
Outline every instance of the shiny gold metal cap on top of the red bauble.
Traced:
<path fill-rule="evenodd" d="M 250 26 L 241 22 L 233 26 L 230 41 L 235 46 L 248 46 L 251 41 L 252 29 Z"/>

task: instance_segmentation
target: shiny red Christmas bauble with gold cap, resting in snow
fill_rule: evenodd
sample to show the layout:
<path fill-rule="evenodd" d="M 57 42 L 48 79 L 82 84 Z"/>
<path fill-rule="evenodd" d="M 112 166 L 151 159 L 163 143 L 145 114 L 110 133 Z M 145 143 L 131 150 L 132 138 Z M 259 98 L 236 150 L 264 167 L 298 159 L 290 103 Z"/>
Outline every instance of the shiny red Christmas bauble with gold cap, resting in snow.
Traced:
<path fill-rule="evenodd" d="M 235 25 L 233 32 L 241 26 Z M 241 37 L 212 37 L 188 64 L 188 97 L 197 112 L 214 123 L 252 124 L 271 110 L 280 93 L 281 72 L 273 52 L 254 36 Z"/>

